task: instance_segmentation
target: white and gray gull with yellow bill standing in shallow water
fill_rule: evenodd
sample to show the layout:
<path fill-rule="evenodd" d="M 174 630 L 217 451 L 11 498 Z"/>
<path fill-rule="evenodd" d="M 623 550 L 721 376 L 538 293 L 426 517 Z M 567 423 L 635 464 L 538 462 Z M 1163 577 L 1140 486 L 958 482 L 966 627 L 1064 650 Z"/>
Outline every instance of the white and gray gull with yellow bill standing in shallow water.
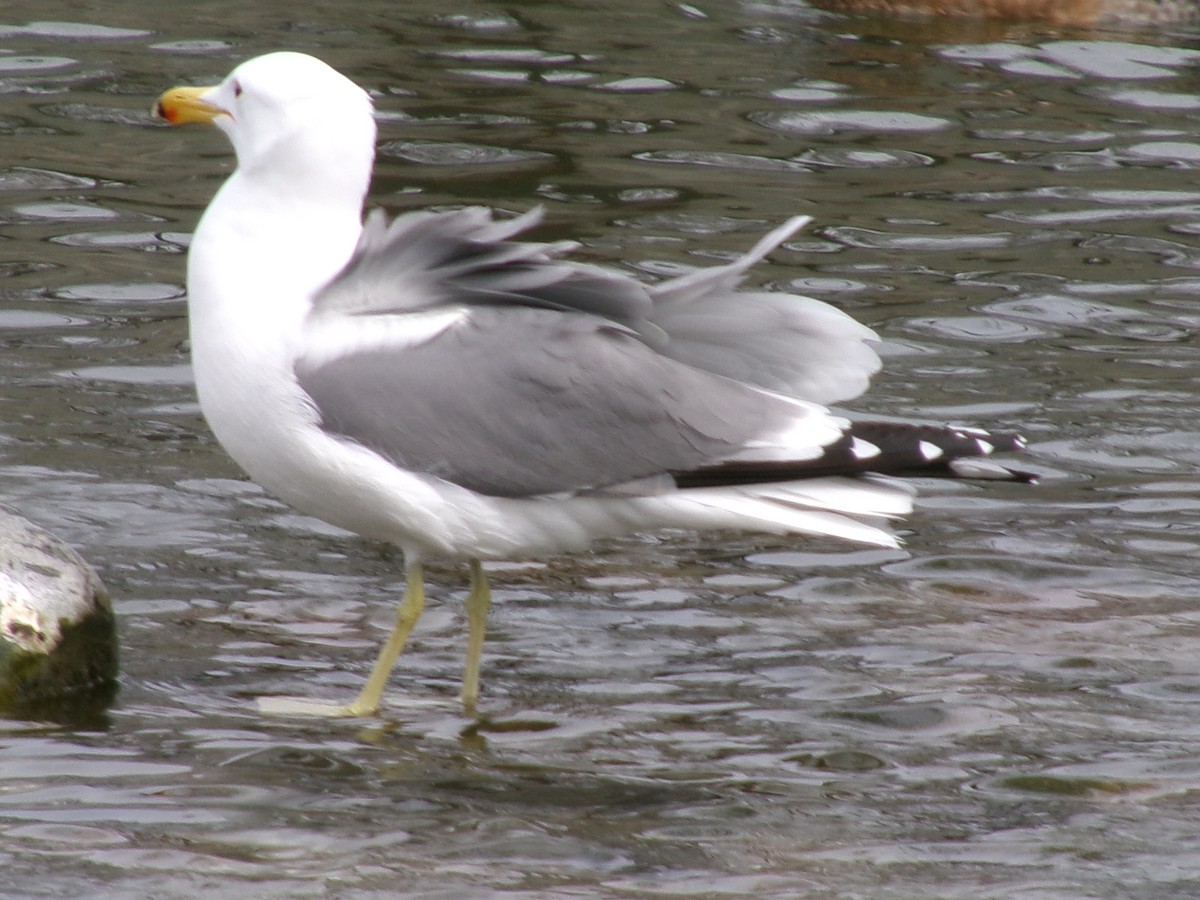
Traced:
<path fill-rule="evenodd" d="M 233 460 L 292 506 L 403 553 L 396 624 L 365 716 L 425 606 L 422 564 L 467 560 L 474 714 L 491 594 L 481 560 L 577 552 L 668 527 L 894 547 L 912 490 L 888 475 L 1024 479 L 983 457 L 1012 434 L 851 420 L 826 404 L 880 368 L 874 331 L 817 300 L 739 290 L 809 222 L 725 265 L 646 284 L 521 235 L 540 210 L 364 218 L 370 96 L 280 52 L 157 113 L 208 122 L 236 168 L 187 258 L 200 408 Z"/>

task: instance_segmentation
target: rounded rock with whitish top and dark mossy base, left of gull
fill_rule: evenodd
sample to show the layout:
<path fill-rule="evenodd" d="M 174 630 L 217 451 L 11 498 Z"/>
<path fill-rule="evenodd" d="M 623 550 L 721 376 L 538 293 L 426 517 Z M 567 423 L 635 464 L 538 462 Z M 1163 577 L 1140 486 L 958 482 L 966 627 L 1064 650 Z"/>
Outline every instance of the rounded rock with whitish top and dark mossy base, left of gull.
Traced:
<path fill-rule="evenodd" d="M 0 712 L 107 702 L 116 628 L 100 576 L 44 528 L 0 508 Z"/>

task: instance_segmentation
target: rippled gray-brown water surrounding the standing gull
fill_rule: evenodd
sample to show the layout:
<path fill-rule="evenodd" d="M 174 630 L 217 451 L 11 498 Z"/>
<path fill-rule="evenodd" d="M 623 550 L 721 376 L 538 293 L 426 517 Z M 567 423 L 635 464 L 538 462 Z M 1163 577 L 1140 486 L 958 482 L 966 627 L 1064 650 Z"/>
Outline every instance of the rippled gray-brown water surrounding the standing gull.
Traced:
<path fill-rule="evenodd" d="M 0 726 L 6 894 L 1200 892 L 1200 34 L 304 6 L 0 12 L 0 497 L 95 563 L 124 649 L 107 713 Z M 857 407 L 1020 427 L 1043 484 L 923 484 L 902 552 L 496 566 L 479 722 L 434 570 L 380 720 L 260 716 L 349 697 L 400 588 L 192 398 L 181 254 L 229 152 L 148 110 L 280 47 L 377 94 L 394 210 L 542 203 L 646 277 L 815 216 L 755 277 L 887 338 Z"/>

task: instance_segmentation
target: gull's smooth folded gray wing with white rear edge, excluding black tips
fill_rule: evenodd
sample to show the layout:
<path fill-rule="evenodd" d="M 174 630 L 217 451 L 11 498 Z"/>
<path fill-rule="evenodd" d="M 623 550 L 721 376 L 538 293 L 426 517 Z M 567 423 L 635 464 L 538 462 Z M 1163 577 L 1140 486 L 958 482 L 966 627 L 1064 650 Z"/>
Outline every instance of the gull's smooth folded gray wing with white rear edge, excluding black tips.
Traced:
<path fill-rule="evenodd" d="M 778 431 L 792 458 L 817 456 L 845 425 L 666 359 L 601 317 L 528 306 L 463 310 L 408 342 L 314 349 L 295 371 L 326 431 L 500 497 L 619 490 L 772 456 Z"/>

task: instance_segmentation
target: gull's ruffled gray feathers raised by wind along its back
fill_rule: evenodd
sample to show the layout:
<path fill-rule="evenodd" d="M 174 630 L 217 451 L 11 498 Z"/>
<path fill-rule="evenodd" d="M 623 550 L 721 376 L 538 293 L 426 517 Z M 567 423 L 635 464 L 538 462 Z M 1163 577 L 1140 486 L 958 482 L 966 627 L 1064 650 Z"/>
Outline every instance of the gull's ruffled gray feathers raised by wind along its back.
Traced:
<path fill-rule="evenodd" d="M 623 325 L 672 359 L 815 403 L 862 394 L 880 368 L 869 328 L 828 304 L 739 292 L 746 271 L 809 222 L 784 223 L 727 265 L 646 286 L 619 271 L 560 262 L 576 245 L 514 240 L 541 218 L 496 222 L 491 211 L 376 211 L 347 269 L 317 298 L 314 317 L 433 310 L 446 304 L 582 312 Z"/>

